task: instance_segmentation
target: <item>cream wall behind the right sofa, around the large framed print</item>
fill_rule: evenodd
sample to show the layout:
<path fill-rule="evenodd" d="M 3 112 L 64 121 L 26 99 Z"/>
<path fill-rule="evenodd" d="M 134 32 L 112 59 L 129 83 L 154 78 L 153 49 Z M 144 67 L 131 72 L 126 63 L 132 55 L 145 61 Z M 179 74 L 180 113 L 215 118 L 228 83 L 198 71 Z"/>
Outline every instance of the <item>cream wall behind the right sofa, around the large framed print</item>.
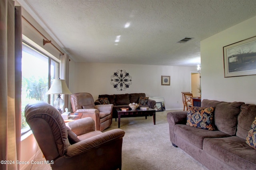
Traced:
<path fill-rule="evenodd" d="M 223 47 L 256 35 L 256 16 L 201 41 L 202 98 L 256 104 L 256 75 L 224 78 Z"/>

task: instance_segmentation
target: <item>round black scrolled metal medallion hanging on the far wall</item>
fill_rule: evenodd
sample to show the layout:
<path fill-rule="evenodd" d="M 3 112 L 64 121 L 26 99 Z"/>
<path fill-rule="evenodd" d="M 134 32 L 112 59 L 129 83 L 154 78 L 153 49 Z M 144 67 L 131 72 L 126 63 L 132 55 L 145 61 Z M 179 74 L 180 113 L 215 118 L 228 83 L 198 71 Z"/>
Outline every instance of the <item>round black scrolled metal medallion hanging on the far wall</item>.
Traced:
<path fill-rule="evenodd" d="M 126 90 L 132 84 L 132 76 L 126 70 L 117 70 L 111 76 L 111 84 L 117 91 Z"/>

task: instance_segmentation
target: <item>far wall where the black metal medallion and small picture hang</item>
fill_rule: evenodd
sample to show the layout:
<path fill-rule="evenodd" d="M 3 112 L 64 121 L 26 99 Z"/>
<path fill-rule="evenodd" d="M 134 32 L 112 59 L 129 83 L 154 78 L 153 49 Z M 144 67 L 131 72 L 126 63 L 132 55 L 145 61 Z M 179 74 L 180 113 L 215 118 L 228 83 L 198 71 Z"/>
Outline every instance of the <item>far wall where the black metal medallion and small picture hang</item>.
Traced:
<path fill-rule="evenodd" d="M 117 70 L 126 70 L 132 84 L 125 91 L 117 91 L 110 84 Z M 164 97 L 166 109 L 181 109 L 182 91 L 190 91 L 190 74 L 195 67 L 156 66 L 138 64 L 70 63 L 70 90 L 88 92 L 94 100 L 99 94 L 145 93 L 147 97 Z M 161 76 L 170 76 L 170 86 L 161 86 Z"/>

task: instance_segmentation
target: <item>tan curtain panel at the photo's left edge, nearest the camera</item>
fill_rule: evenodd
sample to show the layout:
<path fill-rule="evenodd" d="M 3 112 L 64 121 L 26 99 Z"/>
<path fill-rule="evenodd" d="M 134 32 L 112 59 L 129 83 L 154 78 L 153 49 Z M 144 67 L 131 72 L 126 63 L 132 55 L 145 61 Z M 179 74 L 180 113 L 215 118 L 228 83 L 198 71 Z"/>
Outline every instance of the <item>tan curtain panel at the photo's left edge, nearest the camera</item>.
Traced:
<path fill-rule="evenodd" d="M 20 169 L 21 128 L 21 7 L 0 0 L 0 164 L 1 170 Z"/>

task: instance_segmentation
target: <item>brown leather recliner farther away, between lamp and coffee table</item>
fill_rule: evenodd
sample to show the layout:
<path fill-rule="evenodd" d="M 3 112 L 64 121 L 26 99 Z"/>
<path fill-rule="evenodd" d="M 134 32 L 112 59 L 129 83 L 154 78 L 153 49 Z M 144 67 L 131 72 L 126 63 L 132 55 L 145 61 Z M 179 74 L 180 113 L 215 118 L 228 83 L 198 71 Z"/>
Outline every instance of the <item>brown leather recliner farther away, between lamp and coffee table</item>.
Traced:
<path fill-rule="evenodd" d="M 92 117 L 97 131 L 103 131 L 112 124 L 113 104 L 94 105 L 90 93 L 75 93 L 70 96 L 74 113 L 83 113 L 82 117 Z"/>

